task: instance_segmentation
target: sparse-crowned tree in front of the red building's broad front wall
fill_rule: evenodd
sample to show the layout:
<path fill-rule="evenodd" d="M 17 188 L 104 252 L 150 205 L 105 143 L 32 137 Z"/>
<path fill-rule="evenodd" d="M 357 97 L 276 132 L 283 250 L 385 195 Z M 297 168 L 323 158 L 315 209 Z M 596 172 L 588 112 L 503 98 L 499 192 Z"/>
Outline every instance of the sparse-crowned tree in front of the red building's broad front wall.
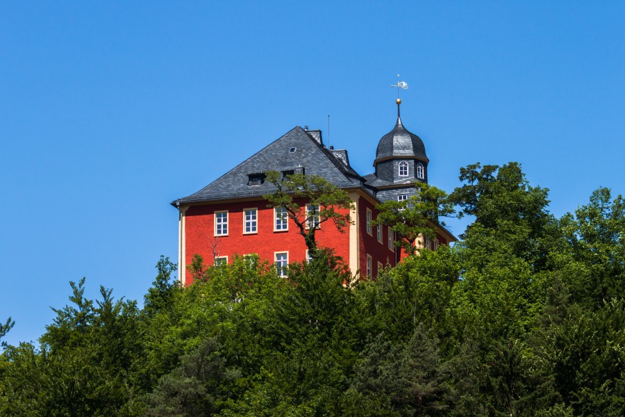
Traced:
<path fill-rule="evenodd" d="M 263 196 L 268 207 L 283 208 L 286 218 L 292 220 L 303 236 L 311 256 L 317 252 L 315 233 L 325 222 L 331 221 L 342 233 L 351 224 L 349 213 L 354 206 L 345 190 L 318 175 L 265 172 L 267 181 L 276 186 L 272 194 Z"/>

